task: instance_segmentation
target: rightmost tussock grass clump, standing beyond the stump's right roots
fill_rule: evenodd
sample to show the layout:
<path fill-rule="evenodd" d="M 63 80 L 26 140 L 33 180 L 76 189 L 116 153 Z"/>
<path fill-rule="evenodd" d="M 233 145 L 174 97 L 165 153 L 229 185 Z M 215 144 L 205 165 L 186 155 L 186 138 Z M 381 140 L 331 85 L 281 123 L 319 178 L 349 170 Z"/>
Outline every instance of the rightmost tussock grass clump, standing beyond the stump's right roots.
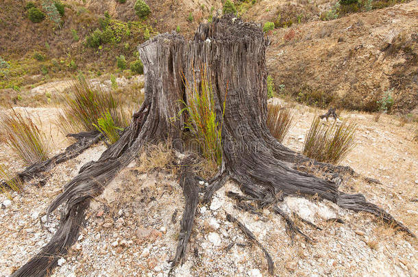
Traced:
<path fill-rule="evenodd" d="M 339 163 L 355 146 L 357 125 L 354 122 L 322 124 L 316 117 L 304 144 L 304 155 L 326 163 Z"/>

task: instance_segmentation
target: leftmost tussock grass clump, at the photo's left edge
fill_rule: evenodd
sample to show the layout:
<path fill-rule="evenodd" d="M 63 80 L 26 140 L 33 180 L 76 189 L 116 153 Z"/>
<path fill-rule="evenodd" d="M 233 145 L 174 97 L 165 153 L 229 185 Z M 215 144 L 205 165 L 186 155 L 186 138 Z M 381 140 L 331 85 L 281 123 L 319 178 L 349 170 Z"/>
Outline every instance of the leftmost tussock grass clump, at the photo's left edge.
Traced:
<path fill-rule="evenodd" d="M 1 140 L 27 165 L 48 159 L 47 137 L 29 116 L 22 116 L 12 109 L 10 114 L 1 115 L 0 128 Z"/>

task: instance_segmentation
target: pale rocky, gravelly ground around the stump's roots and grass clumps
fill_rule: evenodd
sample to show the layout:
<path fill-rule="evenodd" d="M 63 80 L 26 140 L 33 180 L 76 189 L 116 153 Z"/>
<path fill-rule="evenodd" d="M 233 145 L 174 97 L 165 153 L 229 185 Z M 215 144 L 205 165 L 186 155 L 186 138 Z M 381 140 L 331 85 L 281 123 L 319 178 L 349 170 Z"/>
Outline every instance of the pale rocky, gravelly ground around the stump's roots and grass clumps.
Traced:
<path fill-rule="evenodd" d="M 295 120 L 284 144 L 301 150 L 312 118 L 323 111 L 291 106 Z M 42 108 L 37 112 L 40 116 L 51 113 Z M 417 125 L 401 126 L 395 116 L 383 115 L 375 122 L 371 114 L 343 111 L 341 117 L 358 122 L 357 146 L 341 164 L 383 183 L 349 180 L 341 189 L 365 194 L 417 234 L 418 146 L 413 142 Z M 56 151 L 65 145 L 56 146 Z M 21 194 L 12 193 L 11 201 L 0 195 L 0 276 L 11 274 L 49 241 L 58 227 L 59 211 L 47 222 L 47 205 L 84 163 L 98 159 L 105 149 L 99 144 L 58 165 L 47 174 L 43 187 L 36 186 L 38 181 L 27 184 Z M 1 150 L 7 148 L 1 145 Z M 3 153 L 1 163 L 14 170 L 22 168 L 10 151 Z M 225 196 L 230 190 L 239 192 L 237 185 L 228 183 L 211 205 L 199 205 L 186 262 L 175 269 L 175 276 L 268 276 L 263 252 L 225 219 L 225 213 L 241 220 L 269 251 L 275 276 L 418 274 L 417 240 L 396 233 L 371 215 L 313 198 L 286 198 L 282 204 L 286 212 L 323 228 L 315 230 L 297 220 L 315 243 L 299 236 L 292 243 L 280 217 L 267 209 L 260 215 L 236 209 L 234 200 Z M 140 161 L 133 162 L 93 200 L 86 228 L 52 276 L 167 276 L 183 209 L 182 189 L 173 172 L 144 172 Z M 334 217 L 345 223 L 327 221 Z"/>

